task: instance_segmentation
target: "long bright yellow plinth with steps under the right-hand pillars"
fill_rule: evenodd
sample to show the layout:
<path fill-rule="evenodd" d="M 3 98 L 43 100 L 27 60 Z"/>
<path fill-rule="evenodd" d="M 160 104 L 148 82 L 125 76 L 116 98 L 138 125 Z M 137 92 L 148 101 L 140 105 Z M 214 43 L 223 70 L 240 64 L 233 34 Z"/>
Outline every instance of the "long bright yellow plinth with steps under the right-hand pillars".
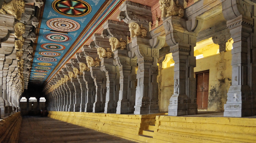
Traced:
<path fill-rule="evenodd" d="M 240 143 L 256 141 L 256 119 L 225 117 L 172 117 L 165 113 L 119 115 L 86 112 L 49 111 L 49 117 L 116 135 L 150 143 Z M 156 121 L 156 124 L 155 124 Z M 153 138 L 139 136 L 155 124 Z"/>

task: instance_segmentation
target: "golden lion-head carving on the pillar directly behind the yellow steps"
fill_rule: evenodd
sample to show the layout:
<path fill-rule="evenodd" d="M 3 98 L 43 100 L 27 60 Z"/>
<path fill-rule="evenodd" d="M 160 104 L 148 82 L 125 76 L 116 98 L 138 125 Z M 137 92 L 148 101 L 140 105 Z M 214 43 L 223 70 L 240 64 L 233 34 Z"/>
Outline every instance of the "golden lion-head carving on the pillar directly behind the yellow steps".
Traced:
<path fill-rule="evenodd" d="M 146 37 L 148 32 L 147 28 L 143 27 L 142 24 L 139 26 L 139 24 L 135 22 L 129 23 L 129 31 L 131 32 L 131 38 L 137 36 Z"/>

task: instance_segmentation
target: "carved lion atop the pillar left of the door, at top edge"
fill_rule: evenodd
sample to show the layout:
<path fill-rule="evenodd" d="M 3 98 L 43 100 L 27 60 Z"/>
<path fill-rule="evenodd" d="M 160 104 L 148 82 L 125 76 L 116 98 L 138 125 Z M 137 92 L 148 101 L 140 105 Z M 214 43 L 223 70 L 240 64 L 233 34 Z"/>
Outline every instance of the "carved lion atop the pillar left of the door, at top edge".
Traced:
<path fill-rule="evenodd" d="M 176 15 L 179 17 L 184 16 L 184 8 L 187 7 L 187 2 L 184 0 L 183 6 L 179 5 L 178 0 L 159 0 L 161 17 L 165 18 L 168 16 Z"/>

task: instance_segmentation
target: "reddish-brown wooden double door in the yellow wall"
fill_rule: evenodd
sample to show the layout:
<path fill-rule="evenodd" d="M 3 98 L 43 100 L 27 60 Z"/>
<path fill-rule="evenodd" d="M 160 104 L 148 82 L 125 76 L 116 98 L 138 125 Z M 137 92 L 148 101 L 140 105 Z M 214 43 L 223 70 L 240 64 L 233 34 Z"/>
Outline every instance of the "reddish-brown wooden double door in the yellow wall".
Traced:
<path fill-rule="evenodd" d="M 209 91 L 209 71 L 203 71 L 203 73 L 196 73 L 196 78 L 198 109 L 207 109 Z"/>

